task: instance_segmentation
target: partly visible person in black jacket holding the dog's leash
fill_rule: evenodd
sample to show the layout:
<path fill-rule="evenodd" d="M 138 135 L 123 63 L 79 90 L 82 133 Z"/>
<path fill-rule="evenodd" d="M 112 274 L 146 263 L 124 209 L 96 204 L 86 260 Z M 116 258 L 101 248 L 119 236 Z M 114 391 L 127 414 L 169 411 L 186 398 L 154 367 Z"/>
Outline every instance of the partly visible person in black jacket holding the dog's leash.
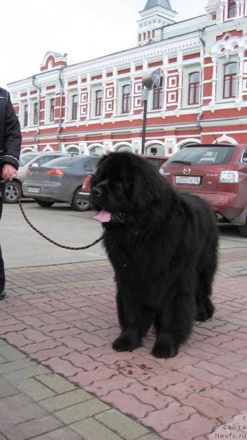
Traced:
<path fill-rule="evenodd" d="M 0 173 L 1 180 L 12 180 L 17 177 L 19 156 L 21 153 L 21 127 L 14 112 L 10 94 L 0 88 Z M 0 219 L 3 210 L 3 199 L 0 197 Z M 5 273 L 0 245 L 0 300 L 5 298 Z"/>

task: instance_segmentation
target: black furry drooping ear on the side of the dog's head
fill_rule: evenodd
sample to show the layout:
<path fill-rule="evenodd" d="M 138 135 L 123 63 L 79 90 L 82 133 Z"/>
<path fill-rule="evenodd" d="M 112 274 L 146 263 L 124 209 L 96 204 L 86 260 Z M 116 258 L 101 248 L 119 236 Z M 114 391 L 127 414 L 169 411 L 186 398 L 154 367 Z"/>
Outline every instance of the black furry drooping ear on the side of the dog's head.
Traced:
<path fill-rule="evenodd" d="M 141 211 L 161 199 L 161 186 L 156 173 L 149 166 L 145 169 L 134 167 L 132 173 L 132 201 Z"/>

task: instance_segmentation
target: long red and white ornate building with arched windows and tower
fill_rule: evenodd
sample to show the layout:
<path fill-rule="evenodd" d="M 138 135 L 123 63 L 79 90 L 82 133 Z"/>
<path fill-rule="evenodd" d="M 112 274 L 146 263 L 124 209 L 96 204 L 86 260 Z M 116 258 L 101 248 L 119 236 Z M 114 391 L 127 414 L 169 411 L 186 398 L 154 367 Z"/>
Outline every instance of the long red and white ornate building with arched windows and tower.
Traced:
<path fill-rule="evenodd" d="M 247 0 L 209 0 L 203 12 L 176 22 L 170 0 L 148 0 L 136 47 L 75 65 L 47 52 L 38 74 L 8 85 L 23 151 L 141 151 L 141 79 L 156 67 L 164 80 L 150 93 L 146 153 L 247 144 Z"/>

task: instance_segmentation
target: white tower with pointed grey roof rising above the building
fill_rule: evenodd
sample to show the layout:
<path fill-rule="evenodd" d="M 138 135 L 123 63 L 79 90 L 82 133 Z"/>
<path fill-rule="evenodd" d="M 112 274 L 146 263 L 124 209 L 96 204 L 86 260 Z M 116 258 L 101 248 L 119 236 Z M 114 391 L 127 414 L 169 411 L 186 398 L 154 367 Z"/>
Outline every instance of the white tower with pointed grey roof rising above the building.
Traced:
<path fill-rule="evenodd" d="M 158 29 L 175 23 L 176 12 L 169 0 L 148 0 L 143 11 L 139 12 L 137 44 L 154 43 L 160 36 Z"/>

